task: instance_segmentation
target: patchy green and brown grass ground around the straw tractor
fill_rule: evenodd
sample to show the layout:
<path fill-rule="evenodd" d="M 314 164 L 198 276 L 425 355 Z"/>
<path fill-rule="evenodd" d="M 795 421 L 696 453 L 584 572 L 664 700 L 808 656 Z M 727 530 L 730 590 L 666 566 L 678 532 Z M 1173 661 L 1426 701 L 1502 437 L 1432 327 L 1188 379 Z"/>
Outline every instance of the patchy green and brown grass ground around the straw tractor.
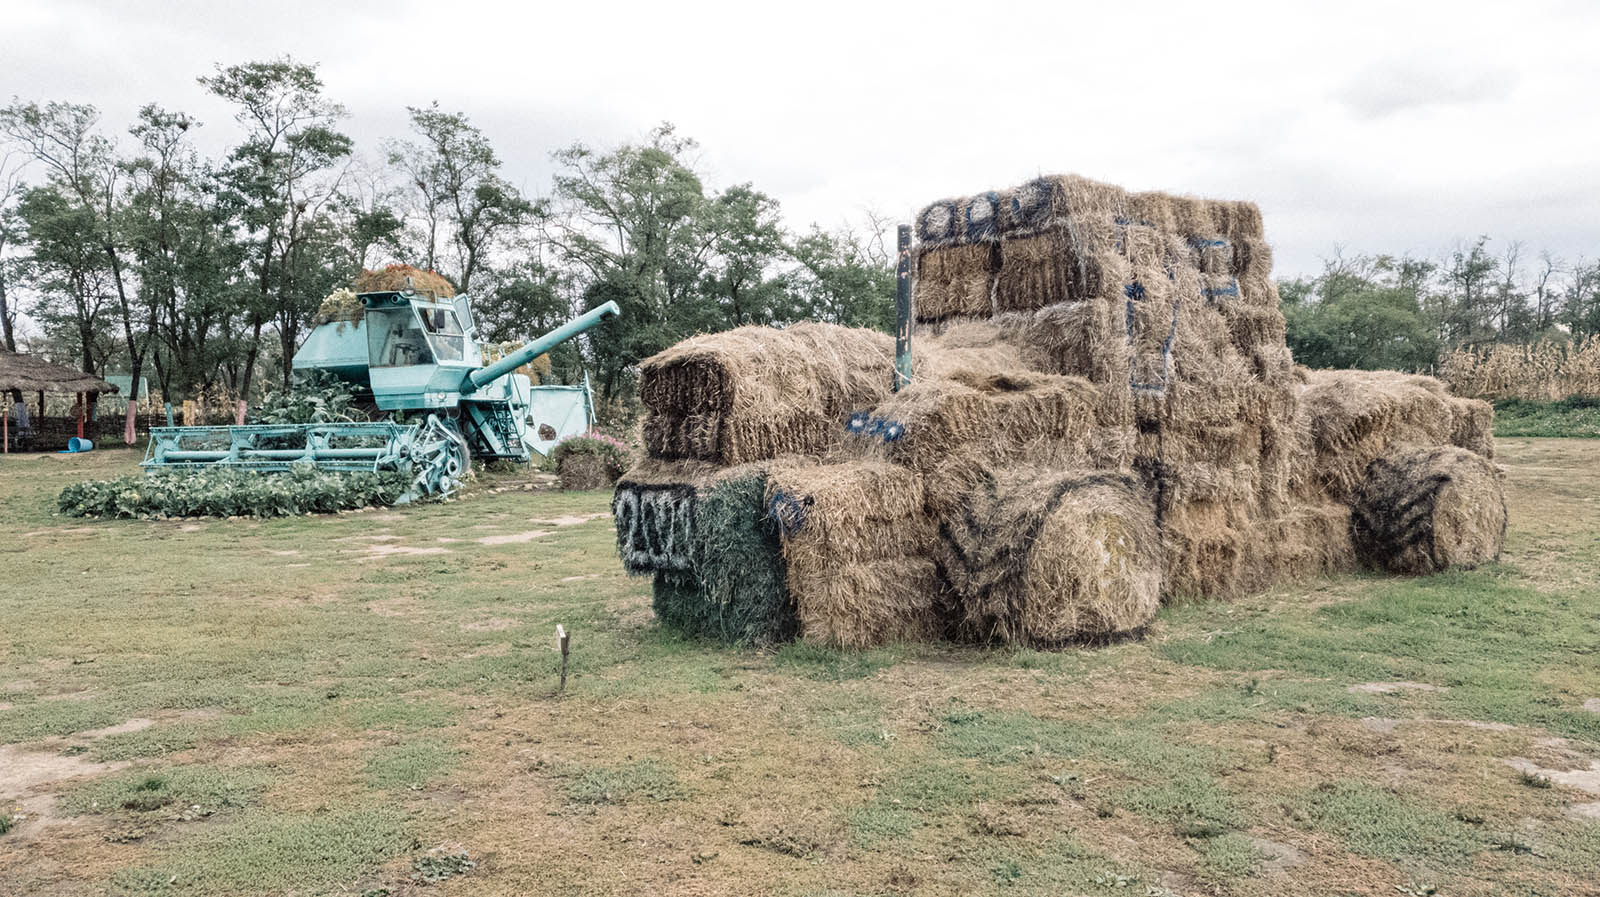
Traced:
<path fill-rule="evenodd" d="M 683 641 L 600 492 L 99 523 L 131 452 L 13 456 L 0 894 L 1595 894 L 1600 441 L 1501 449 L 1501 564 L 1062 654 Z"/>

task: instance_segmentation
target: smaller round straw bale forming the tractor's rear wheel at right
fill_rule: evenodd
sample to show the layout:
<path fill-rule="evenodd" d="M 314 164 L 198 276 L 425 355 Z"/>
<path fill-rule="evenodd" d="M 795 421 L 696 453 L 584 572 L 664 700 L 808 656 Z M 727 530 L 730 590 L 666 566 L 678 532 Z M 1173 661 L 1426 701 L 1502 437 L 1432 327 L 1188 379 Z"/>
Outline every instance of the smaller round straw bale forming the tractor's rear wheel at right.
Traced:
<path fill-rule="evenodd" d="M 1470 569 L 1499 558 L 1506 492 L 1494 462 L 1462 448 L 1403 448 L 1366 467 L 1350 536 L 1371 568 Z"/>

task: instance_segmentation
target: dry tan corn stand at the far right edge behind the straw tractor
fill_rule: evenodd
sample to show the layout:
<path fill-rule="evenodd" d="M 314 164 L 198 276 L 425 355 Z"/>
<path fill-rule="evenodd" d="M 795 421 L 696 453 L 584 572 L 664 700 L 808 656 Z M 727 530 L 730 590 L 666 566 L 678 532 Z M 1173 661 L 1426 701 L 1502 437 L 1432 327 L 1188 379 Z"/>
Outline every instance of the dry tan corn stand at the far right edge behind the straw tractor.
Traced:
<path fill-rule="evenodd" d="M 1440 361 L 1438 376 L 1470 398 L 1600 397 L 1600 337 L 1458 349 Z"/>

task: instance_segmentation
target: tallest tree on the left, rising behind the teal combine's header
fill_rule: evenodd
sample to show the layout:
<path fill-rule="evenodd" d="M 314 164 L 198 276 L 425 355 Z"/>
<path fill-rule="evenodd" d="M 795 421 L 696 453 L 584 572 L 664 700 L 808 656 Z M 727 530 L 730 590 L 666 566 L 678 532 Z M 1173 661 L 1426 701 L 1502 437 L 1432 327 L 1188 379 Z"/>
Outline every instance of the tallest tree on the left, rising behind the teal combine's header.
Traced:
<path fill-rule="evenodd" d="M 328 214 L 339 195 L 334 165 L 350 155 L 350 138 L 334 130 L 344 107 L 322 94 L 315 66 L 285 56 L 267 62 L 218 66 L 200 85 L 235 106 L 245 139 L 229 155 L 226 179 L 240 227 L 254 243 L 250 261 L 254 296 L 242 366 L 250 392 L 261 333 L 272 321 L 278 336 L 283 382 L 299 336 L 330 281 L 354 272 L 338 264 L 339 240 L 330 240 Z M 318 293 L 318 289 L 323 289 Z"/>

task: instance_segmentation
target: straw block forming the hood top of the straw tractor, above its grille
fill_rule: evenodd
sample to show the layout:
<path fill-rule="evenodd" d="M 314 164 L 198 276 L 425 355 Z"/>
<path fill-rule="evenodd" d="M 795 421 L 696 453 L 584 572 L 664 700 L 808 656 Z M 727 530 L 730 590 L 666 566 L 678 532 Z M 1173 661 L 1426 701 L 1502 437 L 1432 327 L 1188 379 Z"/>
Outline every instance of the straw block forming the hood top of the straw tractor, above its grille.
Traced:
<path fill-rule="evenodd" d="M 886 397 L 894 339 L 866 328 L 746 326 L 696 336 L 640 365 L 653 457 L 725 465 L 822 454 L 845 419 Z"/>

